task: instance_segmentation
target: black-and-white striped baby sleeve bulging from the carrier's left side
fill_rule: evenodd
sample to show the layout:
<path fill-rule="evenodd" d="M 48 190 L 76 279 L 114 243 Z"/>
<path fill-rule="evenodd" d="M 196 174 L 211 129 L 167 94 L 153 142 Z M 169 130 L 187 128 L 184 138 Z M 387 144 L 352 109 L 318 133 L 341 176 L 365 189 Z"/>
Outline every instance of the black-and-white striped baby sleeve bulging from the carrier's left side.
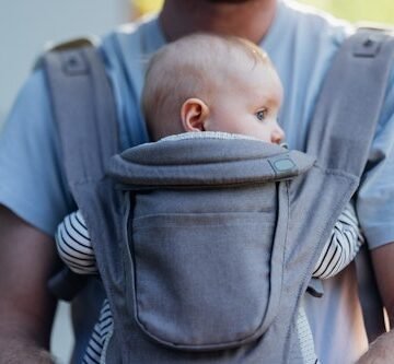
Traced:
<path fill-rule="evenodd" d="M 97 268 L 89 232 L 80 211 L 70 213 L 55 234 L 61 260 L 78 274 L 95 274 Z"/>

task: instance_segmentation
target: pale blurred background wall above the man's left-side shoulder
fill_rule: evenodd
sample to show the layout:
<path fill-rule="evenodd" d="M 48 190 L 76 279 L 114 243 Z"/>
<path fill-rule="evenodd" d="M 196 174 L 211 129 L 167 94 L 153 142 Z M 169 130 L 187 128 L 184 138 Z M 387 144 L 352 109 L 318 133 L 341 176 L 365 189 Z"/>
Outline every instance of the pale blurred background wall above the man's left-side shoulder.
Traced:
<path fill-rule="evenodd" d="M 0 125 L 48 42 L 100 35 L 129 17 L 128 0 L 0 1 Z"/>

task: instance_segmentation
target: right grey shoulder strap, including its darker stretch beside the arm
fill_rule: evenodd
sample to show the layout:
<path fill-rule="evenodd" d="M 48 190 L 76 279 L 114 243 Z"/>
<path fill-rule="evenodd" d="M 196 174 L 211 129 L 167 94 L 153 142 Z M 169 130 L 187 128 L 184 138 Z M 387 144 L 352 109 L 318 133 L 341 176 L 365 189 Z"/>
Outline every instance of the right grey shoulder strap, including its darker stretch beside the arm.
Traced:
<path fill-rule="evenodd" d="M 323 84 L 308 138 L 306 151 L 325 167 L 361 176 L 380 118 L 393 54 L 394 38 L 389 31 L 359 28 L 344 42 Z M 372 341 L 385 331 L 385 326 L 368 249 L 361 249 L 356 267 L 364 325 Z"/>

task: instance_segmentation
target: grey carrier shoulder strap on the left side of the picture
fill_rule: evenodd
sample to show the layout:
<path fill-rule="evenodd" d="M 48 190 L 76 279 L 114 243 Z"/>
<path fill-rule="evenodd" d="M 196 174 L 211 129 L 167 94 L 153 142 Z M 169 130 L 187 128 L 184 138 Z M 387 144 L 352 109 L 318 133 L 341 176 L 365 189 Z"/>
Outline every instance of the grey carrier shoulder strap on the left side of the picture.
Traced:
<path fill-rule="evenodd" d="M 118 152 L 114 96 L 94 47 L 50 51 L 44 67 L 66 174 L 74 192 L 76 184 L 103 178 L 104 164 Z"/>

